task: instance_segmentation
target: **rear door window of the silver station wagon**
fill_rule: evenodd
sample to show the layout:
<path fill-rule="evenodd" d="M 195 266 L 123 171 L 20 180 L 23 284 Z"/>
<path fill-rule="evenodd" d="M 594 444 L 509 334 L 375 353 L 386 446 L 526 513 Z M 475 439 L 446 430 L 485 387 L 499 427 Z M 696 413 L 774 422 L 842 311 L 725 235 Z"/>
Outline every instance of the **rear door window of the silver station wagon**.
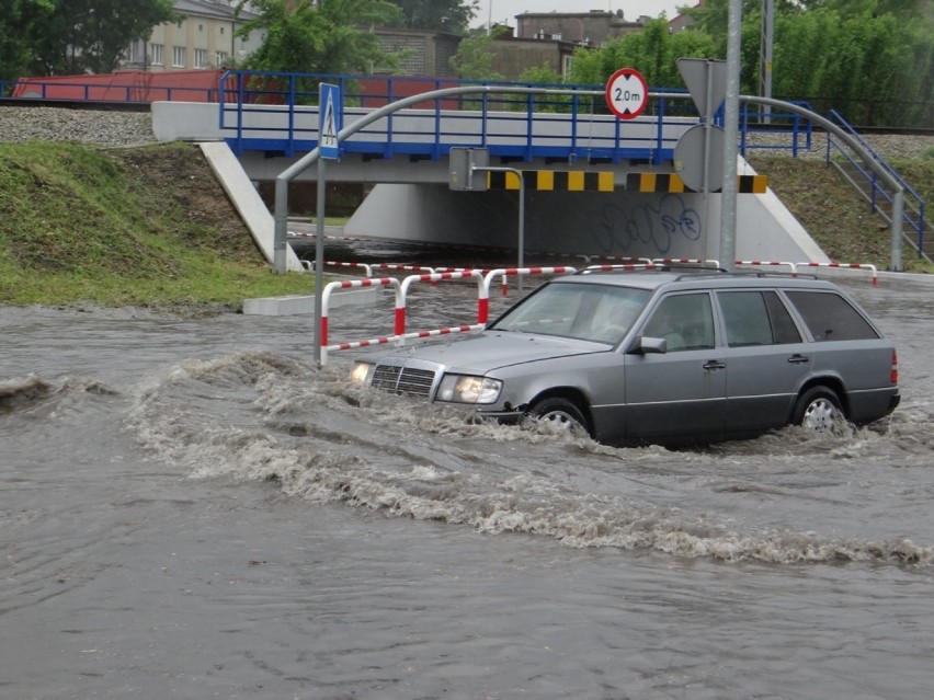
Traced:
<path fill-rule="evenodd" d="M 774 291 L 722 291 L 717 298 L 731 347 L 801 342 L 791 314 Z"/>

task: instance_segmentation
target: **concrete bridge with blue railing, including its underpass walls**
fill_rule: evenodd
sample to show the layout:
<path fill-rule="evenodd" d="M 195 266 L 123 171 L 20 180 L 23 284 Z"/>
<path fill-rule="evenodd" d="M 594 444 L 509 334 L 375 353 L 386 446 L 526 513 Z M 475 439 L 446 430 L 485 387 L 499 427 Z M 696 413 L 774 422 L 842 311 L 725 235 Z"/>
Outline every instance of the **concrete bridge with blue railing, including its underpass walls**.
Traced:
<path fill-rule="evenodd" d="M 672 177 L 675 145 L 698 118 L 665 116 L 662 101 L 653 116 L 626 123 L 592 108 L 554 114 L 529 104 L 524 112 L 498 111 L 487 100 L 481 110 L 451 106 L 438 101 L 431 108 L 403 110 L 342 142 L 328 182 L 376 185 L 345 227 L 346 236 L 514 248 L 517 191 L 452 192 L 448 186 L 451 149 L 483 148 L 491 165 L 522 170 L 527 177 L 535 173 L 536 180 L 538 173 L 550 173 L 553 181 L 570 173 L 612 177 L 608 191 L 526 187 L 529 252 L 708 259 L 719 250 L 719 195 L 686 191 Z M 344 125 L 372 112 L 345 108 Z M 217 104 L 153 105 L 157 137 L 223 140 L 252 181 L 274 180 L 314 149 L 318 124 L 314 106 L 221 103 L 218 114 Z M 744 162 L 739 172 L 754 174 Z M 665 184 L 634 188 L 631 179 L 639 174 L 662 175 L 656 182 Z M 316 169 L 297 177 L 316 180 Z M 737 219 L 740 259 L 829 262 L 771 191 L 740 195 Z"/>

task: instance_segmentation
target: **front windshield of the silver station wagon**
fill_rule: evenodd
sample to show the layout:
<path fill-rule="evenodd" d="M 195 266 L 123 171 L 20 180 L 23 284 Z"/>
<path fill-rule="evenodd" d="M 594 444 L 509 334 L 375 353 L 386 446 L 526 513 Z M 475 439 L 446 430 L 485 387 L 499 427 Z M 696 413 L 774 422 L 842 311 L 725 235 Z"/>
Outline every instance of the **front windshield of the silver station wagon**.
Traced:
<path fill-rule="evenodd" d="M 633 326 L 649 294 L 611 285 L 546 285 L 506 311 L 490 329 L 615 344 Z"/>

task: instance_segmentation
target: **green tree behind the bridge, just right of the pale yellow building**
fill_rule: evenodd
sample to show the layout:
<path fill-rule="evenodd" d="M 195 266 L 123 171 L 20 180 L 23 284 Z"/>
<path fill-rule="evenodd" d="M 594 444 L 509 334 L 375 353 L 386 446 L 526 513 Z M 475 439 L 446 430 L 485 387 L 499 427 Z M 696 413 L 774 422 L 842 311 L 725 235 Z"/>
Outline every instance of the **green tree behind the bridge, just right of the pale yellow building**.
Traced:
<path fill-rule="evenodd" d="M 242 11 L 240 0 L 237 12 Z M 253 70 L 305 73 L 373 72 L 392 67 L 394 58 L 375 34 L 358 26 L 386 26 L 400 12 L 387 0 L 253 0 L 255 19 L 237 31 L 265 34 L 262 45 L 247 59 Z"/>

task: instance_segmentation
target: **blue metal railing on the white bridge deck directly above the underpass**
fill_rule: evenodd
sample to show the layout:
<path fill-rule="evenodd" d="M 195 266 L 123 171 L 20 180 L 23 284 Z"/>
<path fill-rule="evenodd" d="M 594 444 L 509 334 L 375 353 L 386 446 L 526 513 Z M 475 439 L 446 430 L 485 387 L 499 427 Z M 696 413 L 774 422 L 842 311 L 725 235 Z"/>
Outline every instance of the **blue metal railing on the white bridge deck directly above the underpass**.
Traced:
<path fill-rule="evenodd" d="M 263 150 L 293 156 L 314 149 L 319 139 L 320 82 L 340 87 L 344 125 L 401 97 L 445 88 L 476 84 L 572 91 L 426 100 L 366 126 L 341 145 L 344 153 L 381 158 L 436 160 L 452 148 L 471 147 L 487 148 L 491 156 L 504 160 L 628 159 L 658 164 L 672 158 L 681 134 L 698 122 L 683 97 L 653 97 L 643 116 L 620 121 L 610 114 L 602 92 L 594 94 L 600 88 L 593 85 L 230 71 L 220 81 L 219 108 L 221 130 L 234 134 L 228 141 L 235 152 Z"/>

